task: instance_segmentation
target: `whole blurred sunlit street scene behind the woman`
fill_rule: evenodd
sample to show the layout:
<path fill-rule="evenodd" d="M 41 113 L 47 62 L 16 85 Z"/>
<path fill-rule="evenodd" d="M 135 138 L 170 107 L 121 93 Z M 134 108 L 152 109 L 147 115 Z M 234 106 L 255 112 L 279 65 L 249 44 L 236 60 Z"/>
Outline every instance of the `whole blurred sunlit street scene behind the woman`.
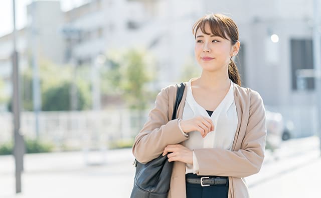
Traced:
<path fill-rule="evenodd" d="M 133 139 L 161 88 L 200 75 L 192 25 L 212 12 L 237 23 L 242 86 L 266 108 L 250 193 L 320 196 L 320 0 L 15 0 L 16 28 L 13 1 L 0 1 L 1 198 L 129 197 Z"/>

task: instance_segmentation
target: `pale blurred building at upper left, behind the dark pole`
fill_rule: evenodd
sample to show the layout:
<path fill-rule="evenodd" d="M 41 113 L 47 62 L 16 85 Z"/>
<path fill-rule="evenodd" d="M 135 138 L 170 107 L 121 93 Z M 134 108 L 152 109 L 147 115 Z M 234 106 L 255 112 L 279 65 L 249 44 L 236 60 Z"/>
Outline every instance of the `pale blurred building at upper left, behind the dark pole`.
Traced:
<path fill-rule="evenodd" d="M 34 11 L 33 11 L 34 9 Z M 17 51 L 19 67 L 24 70 L 32 64 L 31 55 L 36 51 L 37 62 L 40 59 L 55 63 L 64 62 L 65 43 L 60 27 L 63 20 L 59 1 L 36 1 L 27 7 L 28 24 L 17 30 Z M 34 14 L 34 17 L 32 17 Z M 34 21 L 32 21 L 34 20 Z M 33 23 L 34 26 L 31 24 Z M 12 94 L 13 33 L 0 37 L 0 77 L 5 81 L 5 92 Z"/>

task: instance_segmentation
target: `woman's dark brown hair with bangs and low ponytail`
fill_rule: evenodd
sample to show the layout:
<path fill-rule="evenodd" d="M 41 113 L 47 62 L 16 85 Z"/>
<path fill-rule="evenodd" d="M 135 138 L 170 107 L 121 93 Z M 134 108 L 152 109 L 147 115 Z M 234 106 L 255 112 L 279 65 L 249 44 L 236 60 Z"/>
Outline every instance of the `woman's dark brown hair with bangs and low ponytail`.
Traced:
<path fill-rule="evenodd" d="M 205 31 L 205 24 L 209 24 L 212 32 Z M 196 32 L 198 29 L 205 34 L 220 36 L 222 38 L 228 39 L 231 41 L 232 45 L 239 40 L 239 31 L 232 18 L 223 15 L 223 14 L 208 14 L 197 20 L 192 28 L 193 34 L 196 37 Z M 230 38 L 228 38 L 228 37 Z M 230 59 L 228 66 L 229 78 L 236 84 L 241 86 L 241 77 L 239 71 L 236 67 L 236 64 Z"/>

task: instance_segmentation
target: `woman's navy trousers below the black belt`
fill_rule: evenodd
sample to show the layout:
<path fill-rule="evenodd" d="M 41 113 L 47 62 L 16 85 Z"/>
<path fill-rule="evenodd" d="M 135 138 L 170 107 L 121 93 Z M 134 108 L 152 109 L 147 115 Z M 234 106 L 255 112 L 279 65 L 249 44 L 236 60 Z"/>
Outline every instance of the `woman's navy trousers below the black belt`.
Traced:
<path fill-rule="evenodd" d="M 202 176 L 204 175 L 193 173 L 186 174 L 186 177 L 193 178 L 201 178 Z M 226 179 L 227 183 L 224 185 L 201 186 L 201 184 L 186 182 L 186 198 L 227 198 L 229 191 L 229 179 L 228 177 L 226 177 Z"/>

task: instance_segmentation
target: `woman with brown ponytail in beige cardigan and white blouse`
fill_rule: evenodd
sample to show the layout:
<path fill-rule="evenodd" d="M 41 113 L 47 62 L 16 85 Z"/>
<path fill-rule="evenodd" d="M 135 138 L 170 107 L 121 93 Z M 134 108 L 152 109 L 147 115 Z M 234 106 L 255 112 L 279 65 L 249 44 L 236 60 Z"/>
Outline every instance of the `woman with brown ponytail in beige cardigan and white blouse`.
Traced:
<path fill-rule="evenodd" d="M 169 197 L 249 197 L 243 177 L 263 162 L 265 110 L 259 93 L 240 86 L 232 60 L 240 48 L 238 28 L 228 16 L 209 14 L 193 34 L 202 74 L 186 83 L 177 119 L 170 120 L 176 86 L 158 93 L 133 154 L 145 163 L 171 152 Z"/>

